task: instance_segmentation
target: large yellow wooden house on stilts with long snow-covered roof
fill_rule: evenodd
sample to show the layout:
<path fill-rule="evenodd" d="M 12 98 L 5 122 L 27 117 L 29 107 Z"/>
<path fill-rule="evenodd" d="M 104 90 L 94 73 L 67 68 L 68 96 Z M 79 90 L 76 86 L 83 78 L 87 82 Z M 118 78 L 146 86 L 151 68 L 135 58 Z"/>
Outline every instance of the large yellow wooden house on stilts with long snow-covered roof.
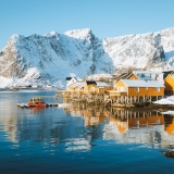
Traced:
<path fill-rule="evenodd" d="M 109 96 L 112 100 L 122 100 L 126 103 L 150 101 L 156 97 L 164 96 L 164 85 L 159 80 L 121 79 Z"/>

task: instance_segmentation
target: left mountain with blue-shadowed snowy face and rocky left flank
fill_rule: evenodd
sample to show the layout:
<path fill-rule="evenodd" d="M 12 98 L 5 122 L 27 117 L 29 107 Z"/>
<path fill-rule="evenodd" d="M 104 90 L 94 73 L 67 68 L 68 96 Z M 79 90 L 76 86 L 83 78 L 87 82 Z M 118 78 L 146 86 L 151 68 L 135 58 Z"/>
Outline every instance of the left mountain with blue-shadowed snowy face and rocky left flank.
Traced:
<path fill-rule="evenodd" d="M 61 35 L 55 32 L 45 36 L 14 35 L 1 51 L 0 75 L 32 82 L 32 77 L 28 77 L 28 70 L 32 69 L 33 83 L 61 83 L 70 73 L 85 77 L 97 71 L 102 72 L 105 64 L 112 63 L 111 59 L 105 57 L 101 64 L 98 59 L 102 54 L 101 41 L 90 29 L 72 30 Z M 99 64 L 97 69 L 96 63 Z"/>

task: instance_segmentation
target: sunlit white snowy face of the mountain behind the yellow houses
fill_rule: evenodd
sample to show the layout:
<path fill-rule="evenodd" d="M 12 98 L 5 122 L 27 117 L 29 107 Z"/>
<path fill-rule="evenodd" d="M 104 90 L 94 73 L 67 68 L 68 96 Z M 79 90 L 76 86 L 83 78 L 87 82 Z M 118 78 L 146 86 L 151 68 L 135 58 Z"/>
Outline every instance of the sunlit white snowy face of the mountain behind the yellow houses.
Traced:
<path fill-rule="evenodd" d="M 162 46 L 156 34 L 129 35 L 103 40 L 104 51 L 112 58 L 115 66 L 148 67 L 161 62 Z"/>

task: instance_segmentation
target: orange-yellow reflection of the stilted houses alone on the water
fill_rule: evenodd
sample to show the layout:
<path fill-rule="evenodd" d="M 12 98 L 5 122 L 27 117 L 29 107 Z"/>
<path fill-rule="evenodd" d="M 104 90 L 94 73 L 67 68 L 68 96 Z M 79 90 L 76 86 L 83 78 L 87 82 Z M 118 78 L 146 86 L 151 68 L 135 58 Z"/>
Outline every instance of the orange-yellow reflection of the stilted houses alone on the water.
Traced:
<path fill-rule="evenodd" d="M 123 110 L 112 109 L 112 112 L 100 110 L 94 107 L 85 108 L 80 104 L 75 104 L 73 108 L 65 109 L 66 113 L 83 116 L 85 126 L 97 126 L 103 123 L 107 117 L 109 122 L 119 129 L 120 133 L 125 133 L 128 128 L 141 128 L 156 125 L 164 125 L 164 130 L 171 135 L 174 132 L 174 119 L 169 117 L 164 121 L 164 116 L 158 111 L 147 110 Z"/>

